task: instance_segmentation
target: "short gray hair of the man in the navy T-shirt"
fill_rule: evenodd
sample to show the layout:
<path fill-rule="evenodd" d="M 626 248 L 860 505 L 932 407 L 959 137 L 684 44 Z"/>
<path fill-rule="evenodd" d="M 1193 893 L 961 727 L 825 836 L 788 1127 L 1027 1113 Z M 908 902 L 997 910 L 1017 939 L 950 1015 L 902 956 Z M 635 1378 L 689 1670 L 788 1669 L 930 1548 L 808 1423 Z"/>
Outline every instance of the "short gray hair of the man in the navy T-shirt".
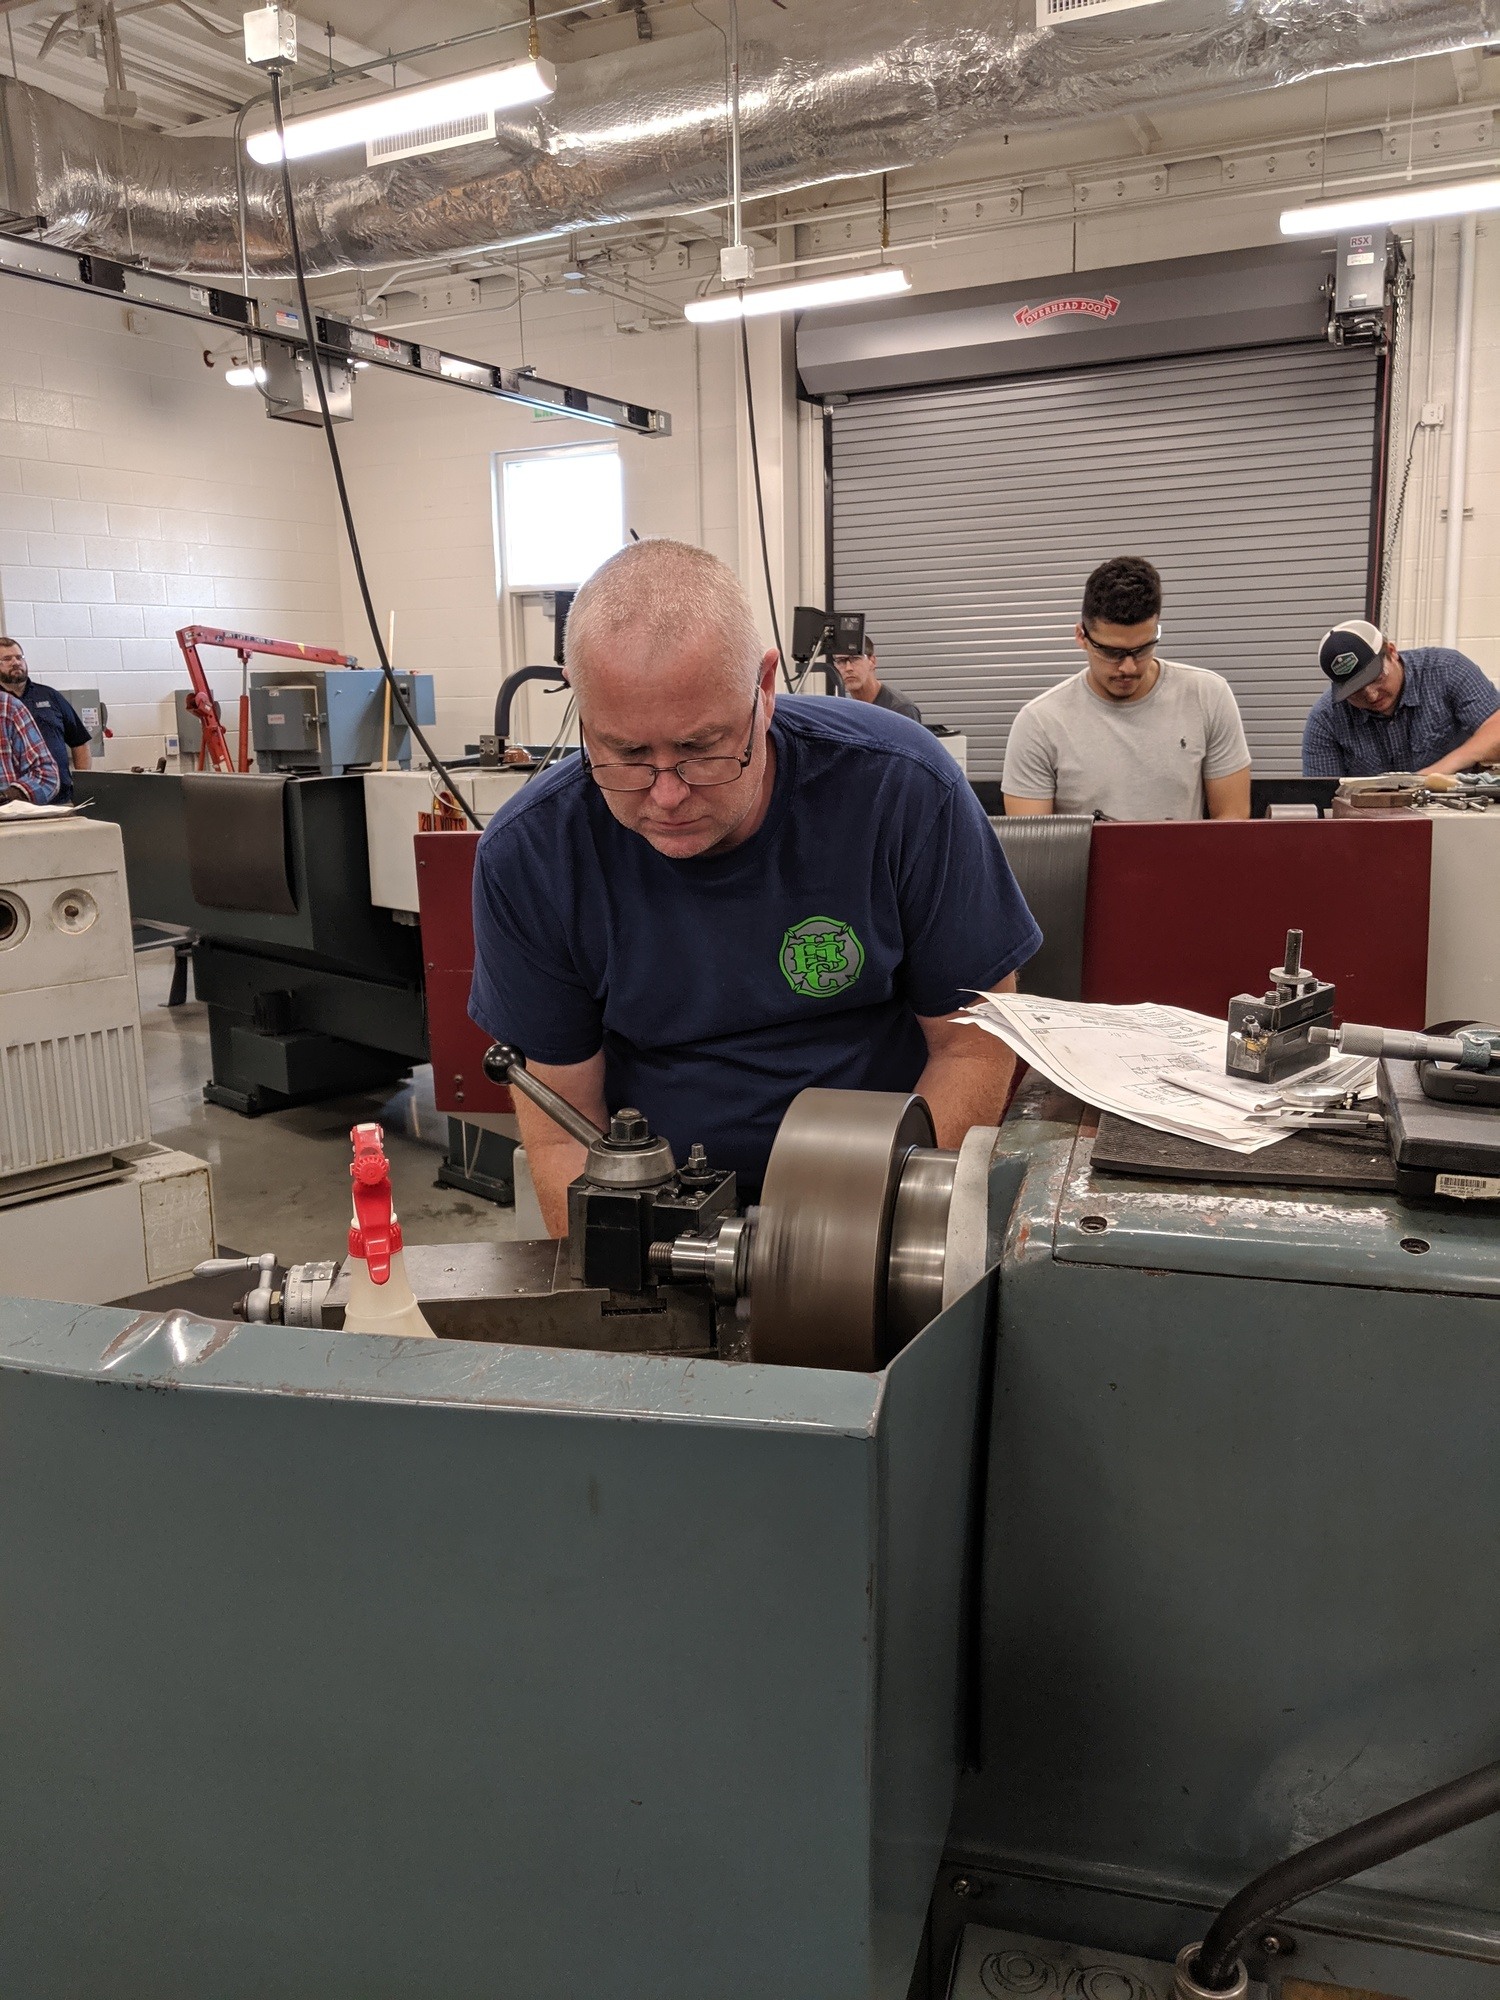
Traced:
<path fill-rule="evenodd" d="M 590 664 L 628 638 L 654 654 L 678 652 L 684 642 L 716 640 L 724 672 L 744 682 L 746 694 L 760 674 L 764 652 L 750 598 L 734 570 L 690 542 L 630 542 L 588 578 L 568 612 L 564 658 L 578 688 Z"/>

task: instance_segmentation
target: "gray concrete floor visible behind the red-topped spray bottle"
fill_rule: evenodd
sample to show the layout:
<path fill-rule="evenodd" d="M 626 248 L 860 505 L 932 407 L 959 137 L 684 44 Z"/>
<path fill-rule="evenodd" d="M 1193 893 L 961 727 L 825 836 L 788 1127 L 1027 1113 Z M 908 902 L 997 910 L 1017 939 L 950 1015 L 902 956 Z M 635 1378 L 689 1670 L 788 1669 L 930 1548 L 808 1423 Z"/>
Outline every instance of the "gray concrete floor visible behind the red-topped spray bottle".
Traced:
<path fill-rule="evenodd" d="M 136 960 L 152 1136 L 208 1160 L 220 1244 L 274 1250 L 284 1262 L 344 1254 L 348 1232 L 348 1132 L 378 1120 L 386 1132 L 396 1212 L 408 1242 L 544 1236 L 536 1196 L 518 1158 L 518 1206 L 496 1208 L 458 1188 L 434 1186 L 446 1118 L 432 1102 L 432 1070 L 384 1094 L 326 1098 L 264 1118 L 204 1104 L 208 1014 L 196 1002 L 166 1006 L 170 956 Z"/>

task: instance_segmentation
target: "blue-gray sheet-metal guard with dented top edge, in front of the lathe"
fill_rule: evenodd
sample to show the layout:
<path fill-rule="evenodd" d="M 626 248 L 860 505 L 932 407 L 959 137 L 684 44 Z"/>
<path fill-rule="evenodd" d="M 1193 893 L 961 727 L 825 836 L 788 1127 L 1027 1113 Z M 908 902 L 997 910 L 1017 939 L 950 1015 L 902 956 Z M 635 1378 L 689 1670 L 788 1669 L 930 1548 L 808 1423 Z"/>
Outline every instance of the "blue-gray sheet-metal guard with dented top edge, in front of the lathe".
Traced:
<path fill-rule="evenodd" d="M 0 1302 L 0 1992 L 900 2000 L 986 1310 L 854 1376 Z"/>

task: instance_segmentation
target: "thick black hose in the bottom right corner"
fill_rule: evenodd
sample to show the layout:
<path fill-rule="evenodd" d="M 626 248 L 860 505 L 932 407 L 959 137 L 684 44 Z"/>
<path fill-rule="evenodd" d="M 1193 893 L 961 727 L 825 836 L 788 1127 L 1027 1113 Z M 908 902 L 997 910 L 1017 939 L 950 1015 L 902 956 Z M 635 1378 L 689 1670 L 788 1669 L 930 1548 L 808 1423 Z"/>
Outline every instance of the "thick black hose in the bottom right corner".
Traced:
<path fill-rule="evenodd" d="M 1346 1882 L 1378 1862 L 1390 1862 L 1492 1812 L 1500 1812 L 1500 1764 L 1486 1764 L 1466 1778 L 1440 1784 L 1420 1798 L 1408 1798 L 1404 1806 L 1376 1812 L 1372 1820 L 1360 1820 L 1342 1834 L 1330 1834 L 1328 1840 L 1290 1854 L 1256 1876 L 1220 1910 L 1198 1946 L 1196 1966 L 1188 1970 L 1210 1992 L 1226 1992 L 1234 1984 L 1236 1960 L 1260 1924 L 1268 1924 L 1320 1888 Z"/>

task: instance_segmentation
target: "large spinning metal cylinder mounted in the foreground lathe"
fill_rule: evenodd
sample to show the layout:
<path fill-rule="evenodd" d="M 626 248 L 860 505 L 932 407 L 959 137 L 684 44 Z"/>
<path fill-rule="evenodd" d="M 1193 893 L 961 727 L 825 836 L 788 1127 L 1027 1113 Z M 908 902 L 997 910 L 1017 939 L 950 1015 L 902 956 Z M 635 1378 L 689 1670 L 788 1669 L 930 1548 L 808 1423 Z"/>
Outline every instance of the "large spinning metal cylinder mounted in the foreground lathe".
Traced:
<path fill-rule="evenodd" d="M 770 1150 L 750 1250 L 752 1360 L 856 1370 L 886 1364 L 896 1198 L 908 1156 L 932 1150 L 932 1142 L 922 1098 L 802 1090 L 792 1100 Z M 936 1172 L 924 1164 L 912 1184 L 908 1210 L 918 1236 L 932 1226 Z M 930 1268 L 916 1246 L 908 1264 L 902 1324 Z"/>

